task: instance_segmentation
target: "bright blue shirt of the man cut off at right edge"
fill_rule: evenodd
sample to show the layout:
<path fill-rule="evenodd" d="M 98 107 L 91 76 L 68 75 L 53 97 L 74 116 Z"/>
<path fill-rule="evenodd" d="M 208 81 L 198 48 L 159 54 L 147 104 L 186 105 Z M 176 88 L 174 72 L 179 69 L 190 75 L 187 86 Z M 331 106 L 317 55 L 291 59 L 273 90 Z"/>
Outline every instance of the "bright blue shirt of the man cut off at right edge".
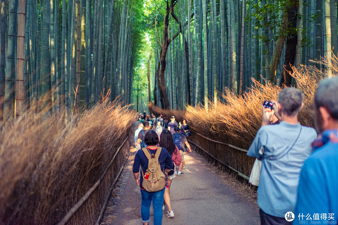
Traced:
<path fill-rule="evenodd" d="M 294 224 L 338 220 L 338 142 L 329 140 L 305 161 L 294 215 Z"/>

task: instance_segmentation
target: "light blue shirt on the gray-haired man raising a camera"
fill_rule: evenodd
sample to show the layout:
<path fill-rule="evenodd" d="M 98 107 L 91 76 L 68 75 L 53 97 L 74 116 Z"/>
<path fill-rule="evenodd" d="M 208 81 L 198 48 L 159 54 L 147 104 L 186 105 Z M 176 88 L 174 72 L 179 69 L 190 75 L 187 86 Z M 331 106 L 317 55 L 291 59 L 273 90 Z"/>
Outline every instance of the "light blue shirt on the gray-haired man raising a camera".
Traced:
<path fill-rule="evenodd" d="M 247 155 L 262 158 L 257 202 L 265 213 L 284 217 L 294 212 L 300 170 L 316 137 L 315 129 L 284 121 L 258 130 Z M 259 154 L 262 147 L 263 156 Z"/>

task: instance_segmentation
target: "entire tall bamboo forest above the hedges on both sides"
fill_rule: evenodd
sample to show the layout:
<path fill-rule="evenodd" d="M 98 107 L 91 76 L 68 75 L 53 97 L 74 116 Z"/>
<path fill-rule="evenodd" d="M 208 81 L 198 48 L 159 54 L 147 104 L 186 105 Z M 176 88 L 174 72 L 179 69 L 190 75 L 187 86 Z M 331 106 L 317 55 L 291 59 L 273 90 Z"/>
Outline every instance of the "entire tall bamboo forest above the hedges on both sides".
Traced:
<path fill-rule="evenodd" d="M 0 21 L 4 121 L 37 101 L 78 112 L 107 95 L 207 109 L 252 79 L 295 85 L 293 66 L 330 76 L 338 51 L 334 0 L 1 0 Z"/>

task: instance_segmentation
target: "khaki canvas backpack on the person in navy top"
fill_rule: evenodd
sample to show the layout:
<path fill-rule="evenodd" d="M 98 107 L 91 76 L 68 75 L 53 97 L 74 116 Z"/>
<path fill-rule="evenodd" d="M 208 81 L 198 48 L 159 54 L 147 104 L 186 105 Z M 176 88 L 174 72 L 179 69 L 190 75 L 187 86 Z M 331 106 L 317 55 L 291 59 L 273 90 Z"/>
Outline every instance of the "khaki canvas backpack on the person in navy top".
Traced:
<path fill-rule="evenodd" d="M 164 173 L 161 171 L 161 166 L 159 163 L 161 147 L 158 147 L 155 155 L 150 155 L 150 152 L 147 148 L 143 148 L 142 150 L 149 160 L 148 169 L 146 171 L 146 174 L 149 173 L 148 179 L 145 179 L 145 174 L 141 168 L 143 176 L 142 186 L 148 192 L 161 191 L 166 185 L 165 176 Z"/>

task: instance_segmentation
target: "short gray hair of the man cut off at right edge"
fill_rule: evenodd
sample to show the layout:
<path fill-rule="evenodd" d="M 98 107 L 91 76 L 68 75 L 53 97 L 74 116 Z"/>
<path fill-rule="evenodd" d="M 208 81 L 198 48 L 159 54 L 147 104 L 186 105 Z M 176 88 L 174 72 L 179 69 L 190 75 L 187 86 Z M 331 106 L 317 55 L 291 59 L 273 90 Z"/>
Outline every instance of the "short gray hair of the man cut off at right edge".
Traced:
<path fill-rule="evenodd" d="M 323 79 L 318 84 L 314 101 L 318 109 L 320 106 L 326 108 L 333 119 L 338 120 L 338 77 Z"/>

